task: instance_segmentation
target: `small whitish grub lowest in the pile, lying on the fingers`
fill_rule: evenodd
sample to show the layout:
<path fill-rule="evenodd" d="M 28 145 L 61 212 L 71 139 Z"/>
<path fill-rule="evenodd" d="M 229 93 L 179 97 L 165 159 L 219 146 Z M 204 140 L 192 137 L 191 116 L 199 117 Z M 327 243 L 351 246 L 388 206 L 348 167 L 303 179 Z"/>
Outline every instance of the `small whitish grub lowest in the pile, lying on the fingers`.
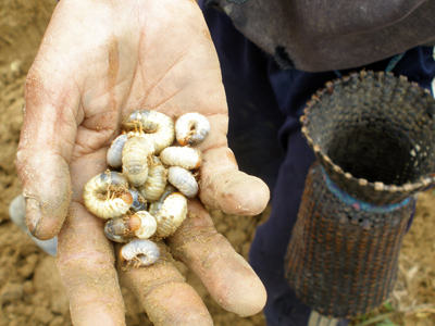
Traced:
<path fill-rule="evenodd" d="M 150 240 L 135 239 L 121 248 L 120 256 L 134 267 L 144 267 L 156 263 L 160 258 L 160 251 Z"/>

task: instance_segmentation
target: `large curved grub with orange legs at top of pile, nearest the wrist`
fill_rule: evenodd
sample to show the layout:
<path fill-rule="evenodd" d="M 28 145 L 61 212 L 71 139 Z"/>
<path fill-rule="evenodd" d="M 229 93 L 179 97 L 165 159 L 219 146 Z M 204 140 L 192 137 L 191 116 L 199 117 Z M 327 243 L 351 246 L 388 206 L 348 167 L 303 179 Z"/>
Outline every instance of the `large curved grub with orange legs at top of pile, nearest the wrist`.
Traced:
<path fill-rule="evenodd" d="M 142 137 L 149 138 L 154 143 L 156 155 L 171 146 L 175 139 L 175 128 L 172 118 L 163 113 L 150 110 L 136 110 L 129 117 L 125 128 L 144 131 Z"/>

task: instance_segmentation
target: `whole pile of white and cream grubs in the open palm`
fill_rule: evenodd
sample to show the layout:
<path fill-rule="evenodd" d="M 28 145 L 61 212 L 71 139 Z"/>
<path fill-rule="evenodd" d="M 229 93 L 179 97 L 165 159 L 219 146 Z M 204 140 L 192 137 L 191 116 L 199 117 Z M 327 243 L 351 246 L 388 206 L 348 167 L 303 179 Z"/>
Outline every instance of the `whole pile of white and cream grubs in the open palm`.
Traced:
<path fill-rule="evenodd" d="M 159 260 L 159 248 L 146 239 L 173 235 L 187 217 L 187 198 L 198 193 L 190 170 L 202 164 L 200 150 L 190 146 L 203 141 L 209 131 L 209 121 L 199 113 L 181 116 L 176 129 L 170 116 L 157 111 L 136 110 L 124 121 L 123 135 L 107 153 L 108 164 L 122 166 L 123 173 L 100 174 L 84 188 L 89 211 L 111 218 L 105 236 L 127 243 L 121 260 L 134 266 Z M 175 137 L 182 147 L 172 146 Z"/>

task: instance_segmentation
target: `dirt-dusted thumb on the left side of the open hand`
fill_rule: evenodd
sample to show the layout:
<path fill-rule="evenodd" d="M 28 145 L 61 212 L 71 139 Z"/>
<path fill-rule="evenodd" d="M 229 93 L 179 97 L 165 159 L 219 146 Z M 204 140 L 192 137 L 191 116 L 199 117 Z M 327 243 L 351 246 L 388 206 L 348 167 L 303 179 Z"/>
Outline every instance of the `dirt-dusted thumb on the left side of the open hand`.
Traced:
<path fill-rule="evenodd" d="M 77 123 L 66 93 L 74 95 L 53 79 L 48 84 L 35 71 L 27 77 L 16 168 L 26 200 L 27 227 L 41 240 L 58 234 L 70 205 L 69 161 Z"/>

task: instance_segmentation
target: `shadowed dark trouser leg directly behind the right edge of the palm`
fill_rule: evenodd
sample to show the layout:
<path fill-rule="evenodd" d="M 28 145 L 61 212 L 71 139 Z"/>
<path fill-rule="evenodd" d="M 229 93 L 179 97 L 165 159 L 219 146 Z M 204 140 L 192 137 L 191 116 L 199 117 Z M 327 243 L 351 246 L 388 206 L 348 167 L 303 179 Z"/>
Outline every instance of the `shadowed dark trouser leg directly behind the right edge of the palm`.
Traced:
<path fill-rule="evenodd" d="M 226 15 L 206 8 L 203 1 L 199 4 L 221 64 L 229 110 L 228 146 L 241 171 L 273 187 L 284 156 L 277 134 L 285 116 L 269 82 L 269 55 L 236 30 Z"/>

